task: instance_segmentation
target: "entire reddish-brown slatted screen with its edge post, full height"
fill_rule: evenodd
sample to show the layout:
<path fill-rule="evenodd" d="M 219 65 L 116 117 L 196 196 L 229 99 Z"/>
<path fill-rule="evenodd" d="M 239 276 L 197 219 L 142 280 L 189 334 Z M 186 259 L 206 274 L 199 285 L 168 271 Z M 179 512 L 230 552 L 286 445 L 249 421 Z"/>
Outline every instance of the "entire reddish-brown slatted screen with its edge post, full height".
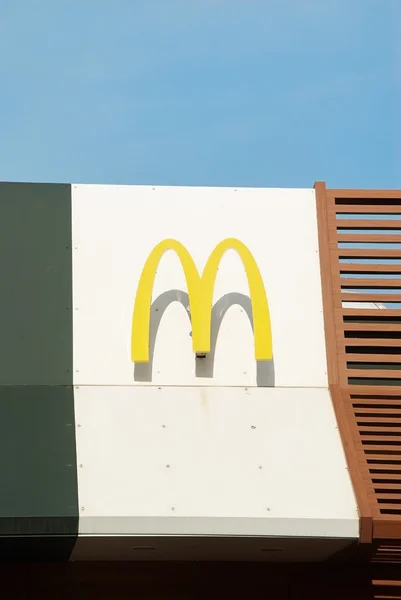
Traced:
<path fill-rule="evenodd" d="M 361 522 L 370 523 L 361 537 L 395 540 L 401 538 L 401 190 L 315 187 L 329 383 Z"/>

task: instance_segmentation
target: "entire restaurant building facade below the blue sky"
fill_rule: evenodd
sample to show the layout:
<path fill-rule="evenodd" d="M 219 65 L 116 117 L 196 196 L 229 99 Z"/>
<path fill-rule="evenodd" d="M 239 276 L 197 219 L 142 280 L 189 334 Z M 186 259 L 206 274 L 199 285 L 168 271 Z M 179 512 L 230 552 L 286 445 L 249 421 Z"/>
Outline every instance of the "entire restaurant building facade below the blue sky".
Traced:
<path fill-rule="evenodd" d="M 398 597 L 401 191 L 3 183 L 0 229 L 19 597 Z"/>

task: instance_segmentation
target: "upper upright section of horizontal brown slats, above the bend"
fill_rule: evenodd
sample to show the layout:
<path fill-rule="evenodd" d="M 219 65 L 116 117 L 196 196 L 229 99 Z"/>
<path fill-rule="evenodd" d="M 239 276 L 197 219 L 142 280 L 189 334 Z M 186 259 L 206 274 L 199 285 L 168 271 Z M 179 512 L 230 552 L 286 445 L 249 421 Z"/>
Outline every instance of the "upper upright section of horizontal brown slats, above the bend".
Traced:
<path fill-rule="evenodd" d="M 328 190 L 327 194 L 330 246 L 338 252 L 341 300 L 349 306 L 338 306 L 336 314 L 338 341 L 345 351 L 340 383 L 398 386 L 401 305 L 396 303 L 401 303 L 401 193 L 382 192 L 380 197 L 372 197 L 371 192 L 360 194 L 347 197 L 345 190 Z M 361 250 L 364 254 L 358 257 Z M 378 251 L 386 254 L 377 256 Z M 376 303 L 378 308 L 369 310 L 367 305 L 357 304 L 366 302 Z M 355 356 L 349 358 L 347 354 Z"/>

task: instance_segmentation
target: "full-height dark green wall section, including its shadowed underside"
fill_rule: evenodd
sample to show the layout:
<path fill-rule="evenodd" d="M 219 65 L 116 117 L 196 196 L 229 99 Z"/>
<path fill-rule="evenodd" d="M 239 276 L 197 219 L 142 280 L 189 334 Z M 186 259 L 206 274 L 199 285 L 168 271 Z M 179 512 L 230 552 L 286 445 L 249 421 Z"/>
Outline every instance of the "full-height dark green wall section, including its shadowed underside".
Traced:
<path fill-rule="evenodd" d="M 71 238 L 71 186 L 0 184 L 2 560 L 77 536 Z"/>

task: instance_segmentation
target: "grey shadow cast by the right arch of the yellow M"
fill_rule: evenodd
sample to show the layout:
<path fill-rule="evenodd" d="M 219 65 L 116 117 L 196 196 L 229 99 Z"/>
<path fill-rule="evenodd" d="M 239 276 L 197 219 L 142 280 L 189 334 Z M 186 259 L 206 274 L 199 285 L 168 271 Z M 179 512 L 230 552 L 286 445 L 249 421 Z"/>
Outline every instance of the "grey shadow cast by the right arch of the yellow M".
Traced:
<path fill-rule="evenodd" d="M 222 296 L 212 308 L 212 325 L 210 352 L 205 358 L 196 360 L 196 376 L 211 378 L 214 374 L 214 362 L 216 356 L 217 338 L 226 312 L 232 306 L 241 306 L 246 312 L 253 331 L 252 303 L 249 296 L 238 292 L 230 292 Z M 274 360 L 256 361 L 256 383 L 258 387 L 274 386 Z"/>

